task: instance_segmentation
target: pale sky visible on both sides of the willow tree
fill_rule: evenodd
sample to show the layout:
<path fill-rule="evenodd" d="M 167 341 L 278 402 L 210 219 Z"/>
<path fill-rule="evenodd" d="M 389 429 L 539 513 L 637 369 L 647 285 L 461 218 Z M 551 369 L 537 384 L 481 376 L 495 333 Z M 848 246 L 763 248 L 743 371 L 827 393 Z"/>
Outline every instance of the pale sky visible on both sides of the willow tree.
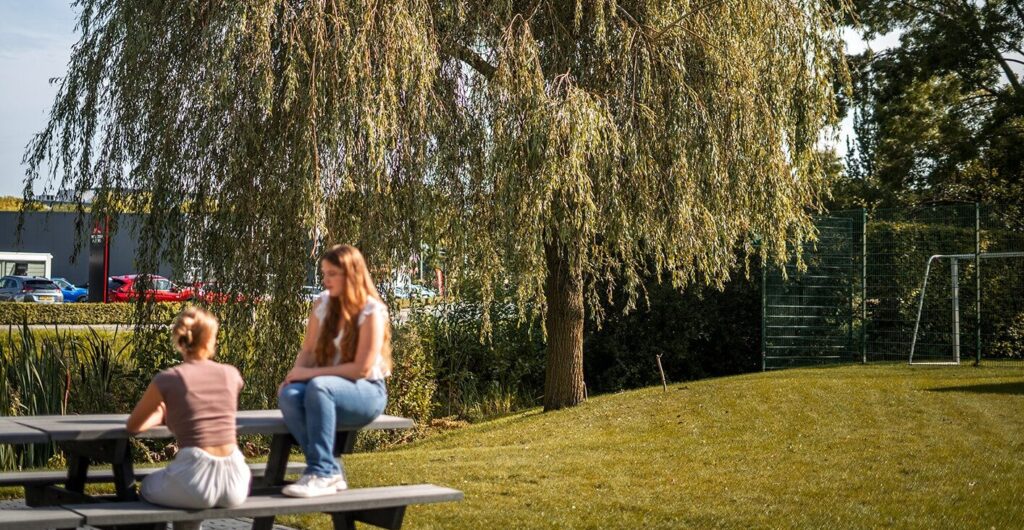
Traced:
<path fill-rule="evenodd" d="M 25 180 L 22 157 L 32 135 L 46 125 L 57 85 L 51 78 L 63 76 L 75 31 L 76 11 L 69 0 L 0 0 L 0 195 L 20 195 Z M 863 51 L 867 43 L 847 31 L 851 52 Z M 876 50 L 897 41 L 894 35 L 871 41 Z M 836 146 L 846 151 L 852 134 L 847 118 Z M 37 183 L 36 193 L 43 192 Z"/>

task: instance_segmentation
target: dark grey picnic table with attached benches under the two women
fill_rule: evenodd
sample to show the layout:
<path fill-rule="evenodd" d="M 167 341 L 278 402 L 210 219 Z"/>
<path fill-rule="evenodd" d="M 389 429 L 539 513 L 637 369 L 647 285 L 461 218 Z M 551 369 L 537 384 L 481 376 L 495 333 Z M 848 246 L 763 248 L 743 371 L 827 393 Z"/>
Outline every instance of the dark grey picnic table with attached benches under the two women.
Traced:
<path fill-rule="evenodd" d="M 288 433 L 280 410 L 247 410 L 238 413 L 238 433 L 272 435 L 265 465 L 254 470 L 250 498 L 233 509 L 177 510 L 141 501 L 135 481 L 155 470 L 135 470 L 126 414 L 0 417 L 0 443 L 56 443 L 67 454 L 63 472 L 16 472 L 0 474 L 0 485 L 22 486 L 26 503 L 33 510 L 0 511 L 0 530 L 31 528 L 76 528 L 116 525 L 118 528 L 155 528 L 172 521 L 201 521 L 221 517 L 251 517 L 253 528 L 268 530 L 276 515 L 322 512 L 331 514 L 335 528 L 353 528 L 361 521 L 384 528 L 399 528 L 406 506 L 459 500 L 462 493 L 430 484 L 361 488 L 314 498 L 291 498 L 281 494 L 288 484 L 285 475 L 304 466 L 289 462 L 295 440 Z M 413 422 L 381 415 L 367 430 L 409 429 Z M 166 427 L 138 435 L 169 438 Z M 356 430 L 339 426 L 335 456 L 350 453 Z M 110 470 L 92 470 L 93 463 L 110 462 Z M 114 495 L 90 495 L 85 484 L 113 482 Z M 62 486 L 58 485 L 62 484 Z"/>

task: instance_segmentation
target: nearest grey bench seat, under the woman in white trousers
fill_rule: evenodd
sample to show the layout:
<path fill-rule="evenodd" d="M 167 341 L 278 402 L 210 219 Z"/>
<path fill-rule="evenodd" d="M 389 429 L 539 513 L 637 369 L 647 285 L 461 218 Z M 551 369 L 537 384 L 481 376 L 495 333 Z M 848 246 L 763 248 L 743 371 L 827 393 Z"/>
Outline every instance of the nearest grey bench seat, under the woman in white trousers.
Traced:
<path fill-rule="evenodd" d="M 85 518 L 85 523 L 93 526 L 133 525 L 174 521 L 199 521 L 204 519 L 226 519 L 237 517 L 268 517 L 304 513 L 357 512 L 462 500 L 459 490 L 416 484 L 410 486 L 385 486 L 358 488 L 338 492 L 334 495 L 312 498 L 294 498 L 282 494 L 253 495 L 236 507 L 215 507 L 187 511 L 158 506 L 148 502 L 113 502 L 102 504 L 66 504 L 65 507 Z"/>

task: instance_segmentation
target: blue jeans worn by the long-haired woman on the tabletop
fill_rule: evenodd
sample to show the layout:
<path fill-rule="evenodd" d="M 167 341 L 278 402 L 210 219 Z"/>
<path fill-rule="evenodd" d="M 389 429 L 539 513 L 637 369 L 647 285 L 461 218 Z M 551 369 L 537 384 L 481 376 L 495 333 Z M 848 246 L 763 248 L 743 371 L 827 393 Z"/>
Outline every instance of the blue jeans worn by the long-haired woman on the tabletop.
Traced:
<path fill-rule="evenodd" d="M 383 381 L 349 381 L 337 376 L 292 383 L 278 395 L 285 424 L 306 455 L 305 473 L 318 477 L 342 473 L 334 457 L 337 428 L 362 427 L 384 412 L 386 404 Z"/>

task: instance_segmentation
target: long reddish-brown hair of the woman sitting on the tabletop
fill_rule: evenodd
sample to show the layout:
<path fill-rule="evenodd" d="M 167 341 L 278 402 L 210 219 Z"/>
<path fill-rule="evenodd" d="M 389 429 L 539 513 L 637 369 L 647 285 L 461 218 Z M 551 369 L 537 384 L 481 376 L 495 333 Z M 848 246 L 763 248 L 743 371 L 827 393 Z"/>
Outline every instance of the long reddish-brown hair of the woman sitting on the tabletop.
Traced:
<path fill-rule="evenodd" d="M 316 365 L 327 366 L 334 358 L 334 338 L 341 335 L 341 362 L 355 359 L 355 346 L 359 341 L 358 317 L 367 299 L 371 296 L 380 300 L 380 294 L 370 277 L 367 261 L 362 253 L 350 245 L 335 245 L 321 255 L 321 262 L 328 262 L 341 269 L 342 291 L 340 297 L 328 297 L 327 317 L 321 323 L 316 338 Z M 391 325 L 384 323 L 384 345 L 381 355 L 388 370 L 391 369 Z"/>

